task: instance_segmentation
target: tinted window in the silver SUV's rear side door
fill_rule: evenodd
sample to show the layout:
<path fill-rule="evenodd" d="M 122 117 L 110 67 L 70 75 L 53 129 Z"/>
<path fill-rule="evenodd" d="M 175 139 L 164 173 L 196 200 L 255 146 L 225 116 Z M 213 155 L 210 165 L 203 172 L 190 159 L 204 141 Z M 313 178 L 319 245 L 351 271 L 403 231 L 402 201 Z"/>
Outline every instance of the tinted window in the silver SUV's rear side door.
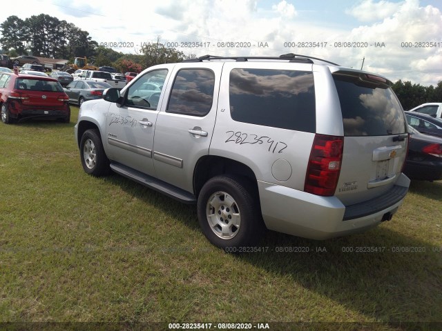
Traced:
<path fill-rule="evenodd" d="M 214 86 L 215 74 L 211 70 L 180 70 L 173 82 L 166 112 L 205 116 L 212 108 Z"/>

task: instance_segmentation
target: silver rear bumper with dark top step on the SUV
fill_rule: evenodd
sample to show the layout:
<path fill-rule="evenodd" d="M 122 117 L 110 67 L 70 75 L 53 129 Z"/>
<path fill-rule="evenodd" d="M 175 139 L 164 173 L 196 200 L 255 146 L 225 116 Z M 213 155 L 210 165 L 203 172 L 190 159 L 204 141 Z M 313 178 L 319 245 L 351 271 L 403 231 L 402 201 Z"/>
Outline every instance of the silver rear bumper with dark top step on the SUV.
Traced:
<path fill-rule="evenodd" d="M 319 197 L 258 181 L 267 228 L 317 240 L 363 232 L 390 218 L 403 203 L 409 185 L 410 179 L 401 174 L 382 197 L 345 206 L 337 197 Z"/>

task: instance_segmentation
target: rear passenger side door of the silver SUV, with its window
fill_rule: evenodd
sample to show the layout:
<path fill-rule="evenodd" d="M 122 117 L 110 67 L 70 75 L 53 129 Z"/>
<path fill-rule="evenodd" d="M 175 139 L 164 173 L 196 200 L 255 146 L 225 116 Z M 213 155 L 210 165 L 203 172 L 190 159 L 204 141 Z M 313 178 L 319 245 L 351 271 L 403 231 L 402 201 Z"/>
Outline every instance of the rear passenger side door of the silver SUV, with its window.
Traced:
<path fill-rule="evenodd" d="M 188 192 L 193 192 L 195 164 L 209 154 L 218 105 L 214 96 L 223 64 L 211 63 L 210 69 L 200 63 L 175 67 L 173 84 L 166 90 L 169 100 L 164 100 L 158 114 L 153 146 L 156 177 Z M 154 96 L 161 84 L 150 82 L 146 88 Z"/>

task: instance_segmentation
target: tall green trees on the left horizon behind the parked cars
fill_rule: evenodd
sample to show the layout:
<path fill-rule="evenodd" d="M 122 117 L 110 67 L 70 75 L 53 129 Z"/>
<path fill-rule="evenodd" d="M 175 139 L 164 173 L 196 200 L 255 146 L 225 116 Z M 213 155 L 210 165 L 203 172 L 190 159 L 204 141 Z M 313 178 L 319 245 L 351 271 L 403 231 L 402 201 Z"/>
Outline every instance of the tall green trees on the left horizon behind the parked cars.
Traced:
<path fill-rule="evenodd" d="M 95 66 L 113 66 L 122 72 L 140 72 L 155 64 L 180 62 L 187 57 L 175 48 L 166 48 L 156 42 L 145 43 L 140 54 L 124 54 L 99 46 L 87 31 L 73 23 L 59 20 L 48 14 L 32 15 L 20 19 L 13 15 L 0 24 L 0 44 L 10 57 L 32 55 L 68 59 L 87 57 Z"/>

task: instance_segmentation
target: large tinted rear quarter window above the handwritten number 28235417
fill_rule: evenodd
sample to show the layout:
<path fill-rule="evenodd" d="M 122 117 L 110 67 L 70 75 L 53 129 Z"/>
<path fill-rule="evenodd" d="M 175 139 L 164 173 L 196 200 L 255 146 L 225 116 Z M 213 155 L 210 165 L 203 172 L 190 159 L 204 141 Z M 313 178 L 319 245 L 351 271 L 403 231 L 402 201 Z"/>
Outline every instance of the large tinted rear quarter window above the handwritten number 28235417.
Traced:
<path fill-rule="evenodd" d="M 233 69 L 230 113 L 235 121 L 303 132 L 316 131 L 312 72 Z"/>

